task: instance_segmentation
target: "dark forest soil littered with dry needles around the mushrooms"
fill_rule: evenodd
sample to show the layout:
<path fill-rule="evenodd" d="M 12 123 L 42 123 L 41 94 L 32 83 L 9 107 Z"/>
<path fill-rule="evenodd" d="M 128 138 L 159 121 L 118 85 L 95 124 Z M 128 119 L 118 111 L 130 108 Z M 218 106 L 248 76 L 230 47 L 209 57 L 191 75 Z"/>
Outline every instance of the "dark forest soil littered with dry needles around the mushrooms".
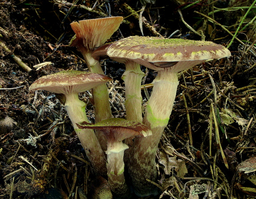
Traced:
<path fill-rule="evenodd" d="M 185 9 L 182 8 L 191 2 L 172 0 L 147 4 L 142 14 L 145 18 L 142 19 L 149 28 L 143 25 L 144 35 L 169 37 L 179 30 L 172 38 L 200 40 L 201 37 L 181 21 L 178 13 L 180 8 L 185 22 L 195 30 L 203 31 L 206 40 L 227 46 L 232 36 L 194 11 L 207 15 L 217 8 L 231 7 L 232 3 L 235 5 L 238 1 L 214 1 L 214 8 L 211 2 L 200 1 Z M 29 92 L 28 87 L 43 75 L 87 68 L 82 55 L 68 45 L 74 35 L 69 25 L 71 22 L 105 16 L 128 16 L 108 42 L 142 35 L 139 20 L 135 14 L 129 16 L 131 13 L 128 10 L 130 6 L 139 11 L 142 4 L 140 1 L 78 0 L 72 7 L 72 3 L 71 0 L 0 0 L 0 42 L 9 49 L 7 52 L 0 45 L 0 119 L 11 118 L 7 126 L 0 123 L 1 199 L 68 196 L 82 199 L 85 195 L 90 198 L 90 182 L 95 180 L 95 176 L 90 165 L 86 164 L 87 157 L 66 111 L 54 94 Z M 251 3 L 247 2 L 244 6 Z M 87 9 L 92 7 L 92 11 Z M 214 14 L 214 19 L 235 33 L 239 19 L 244 14 L 241 10 L 221 10 Z M 255 9 L 245 22 L 248 23 L 254 16 Z M 245 44 L 234 40 L 229 48 L 232 53 L 230 58 L 205 62 L 180 73 L 173 112 L 156 156 L 157 184 L 161 187 L 162 198 L 194 198 L 192 185 L 206 187 L 198 194 L 199 198 L 256 197 L 256 180 L 251 180 L 255 179 L 255 170 L 246 175 L 244 171 L 237 170 L 241 162 L 255 157 L 255 27 L 254 22 L 238 35 Z M 23 70 L 14 61 L 14 55 L 32 70 Z M 33 68 L 43 62 L 51 64 L 38 70 Z M 103 65 L 105 73 L 114 79 L 114 83 L 108 85 L 109 88 L 115 86 L 110 94 L 113 114 L 125 118 L 121 80 L 125 67 L 110 59 L 104 60 Z M 142 70 L 147 74 L 143 83 L 151 83 L 156 73 L 145 68 Z M 214 89 L 216 94 L 210 94 Z M 147 91 L 150 94 L 151 88 Z M 146 104 L 144 91 L 142 96 Z M 90 93 L 80 94 L 80 97 L 88 103 L 87 114 L 94 122 Z M 191 126 L 187 123 L 186 111 Z M 215 112 L 218 120 L 220 143 L 216 140 L 214 122 L 211 125 L 212 112 Z M 228 122 L 230 120 L 233 122 Z M 193 146 L 189 146 L 189 129 L 192 131 Z M 229 169 L 223 162 L 221 148 Z M 173 149 L 175 154 L 172 153 Z M 175 161 L 183 162 L 187 170 L 182 166 L 178 169 L 168 166 L 172 156 Z"/>

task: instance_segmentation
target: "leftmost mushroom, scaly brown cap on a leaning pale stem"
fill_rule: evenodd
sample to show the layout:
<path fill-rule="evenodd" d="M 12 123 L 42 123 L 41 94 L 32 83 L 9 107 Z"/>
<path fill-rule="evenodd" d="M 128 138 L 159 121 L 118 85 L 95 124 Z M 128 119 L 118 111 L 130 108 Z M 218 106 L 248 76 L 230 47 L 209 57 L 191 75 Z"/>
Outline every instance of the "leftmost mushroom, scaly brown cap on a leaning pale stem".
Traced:
<path fill-rule="evenodd" d="M 76 134 L 92 165 L 95 174 L 106 175 L 106 158 L 93 130 L 78 129 L 76 123 L 87 121 L 86 104 L 78 98 L 78 93 L 92 89 L 100 84 L 111 81 L 110 77 L 97 73 L 83 71 L 61 71 L 59 73 L 40 77 L 29 87 L 29 91 L 43 89 L 54 92 L 71 119 Z"/>

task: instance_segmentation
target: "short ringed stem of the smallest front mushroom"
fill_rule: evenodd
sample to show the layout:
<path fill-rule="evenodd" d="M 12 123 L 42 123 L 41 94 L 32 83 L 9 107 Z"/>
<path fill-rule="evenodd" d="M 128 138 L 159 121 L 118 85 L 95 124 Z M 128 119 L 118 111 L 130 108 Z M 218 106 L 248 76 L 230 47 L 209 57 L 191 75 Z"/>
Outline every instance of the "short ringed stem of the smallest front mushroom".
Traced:
<path fill-rule="evenodd" d="M 124 147 L 120 152 L 108 152 L 110 148 L 108 147 L 107 153 L 107 176 L 109 179 L 109 186 L 111 191 L 114 193 L 114 196 L 118 198 L 128 198 L 130 190 L 126 184 L 124 178 L 124 163 L 123 155 L 124 150 L 128 148 L 126 144 L 123 144 L 122 141 L 114 142 L 111 144 L 111 148 L 120 148 Z"/>

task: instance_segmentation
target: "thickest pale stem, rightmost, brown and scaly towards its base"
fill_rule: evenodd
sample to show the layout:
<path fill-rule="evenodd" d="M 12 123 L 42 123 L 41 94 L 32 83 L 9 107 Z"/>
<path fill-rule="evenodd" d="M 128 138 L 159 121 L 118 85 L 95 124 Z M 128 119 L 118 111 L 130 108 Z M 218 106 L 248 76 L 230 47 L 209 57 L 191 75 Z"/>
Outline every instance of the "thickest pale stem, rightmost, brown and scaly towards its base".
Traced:
<path fill-rule="evenodd" d="M 128 172 L 135 194 L 140 197 L 156 195 L 155 155 L 164 128 L 168 124 L 178 87 L 178 73 L 163 68 L 153 81 L 154 88 L 146 106 L 143 123 L 151 128 L 152 136 L 135 138 L 128 154 Z"/>

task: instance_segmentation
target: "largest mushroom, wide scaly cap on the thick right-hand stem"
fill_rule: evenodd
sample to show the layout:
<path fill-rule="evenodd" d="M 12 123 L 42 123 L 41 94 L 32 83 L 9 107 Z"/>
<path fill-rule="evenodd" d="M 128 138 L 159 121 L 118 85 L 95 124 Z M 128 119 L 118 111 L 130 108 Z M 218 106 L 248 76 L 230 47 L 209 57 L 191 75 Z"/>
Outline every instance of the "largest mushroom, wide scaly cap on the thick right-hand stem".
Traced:
<path fill-rule="evenodd" d="M 143 123 L 151 128 L 152 136 L 135 138 L 127 157 L 125 155 L 135 193 L 140 197 L 157 194 L 146 179 L 156 180 L 155 154 L 171 115 L 178 72 L 208 59 L 230 56 L 230 51 L 213 42 L 136 36 L 119 40 L 118 47 L 109 49 L 118 59 L 130 59 L 158 72 L 143 118 Z"/>

